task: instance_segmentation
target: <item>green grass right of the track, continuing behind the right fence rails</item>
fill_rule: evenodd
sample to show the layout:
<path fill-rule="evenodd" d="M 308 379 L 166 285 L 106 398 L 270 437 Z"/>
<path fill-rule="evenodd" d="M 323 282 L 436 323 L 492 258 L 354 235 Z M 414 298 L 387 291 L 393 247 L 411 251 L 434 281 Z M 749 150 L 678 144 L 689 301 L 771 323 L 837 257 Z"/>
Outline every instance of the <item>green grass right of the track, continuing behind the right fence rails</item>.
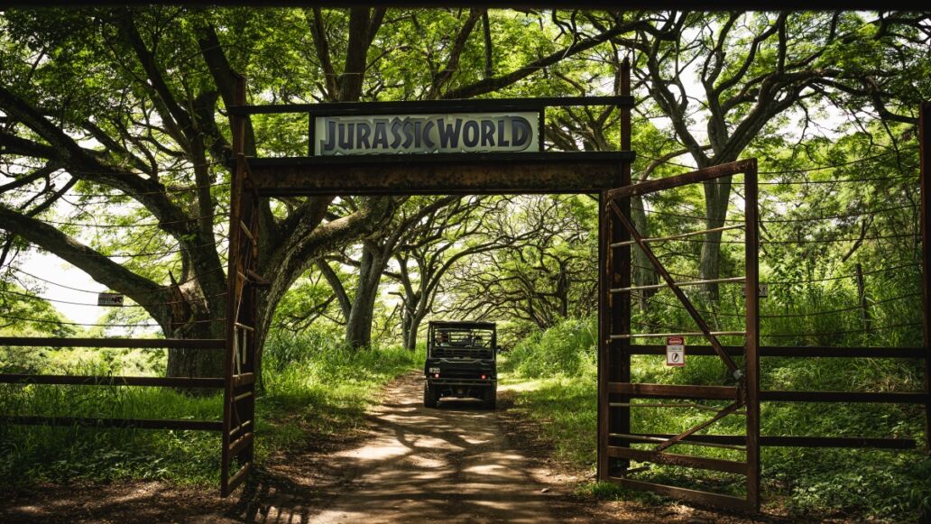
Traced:
<path fill-rule="evenodd" d="M 556 459 L 591 471 L 597 428 L 594 329 L 593 322 L 568 321 L 520 343 L 503 359 L 501 382 L 514 392 L 515 409 L 541 423 Z M 767 359 L 762 376 L 766 388 L 905 391 L 916 386 L 914 368 L 913 363 L 839 358 Z M 662 356 L 636 356 L 632 369 L 633 380 L 644 383 L 721 383 L 724 372 L 716 358 L 695 356 L 689 357 L 685 369 L 667 368 Z M 640 408 L 632 410 L 631 425 L 634 432 L 678 433 L 709 416 L 704 410 Z M 923 419 L 915 406 L 764 404 L 762 434 L 920 439 Z M 702 433 L 740 435 L 743 423 L 742 417 L 731 416 Z M 743 453 L 734 450 L 677 446 L 675 451 L 744 460 Z M 931 506 L 931 460 L 922 451 L 764 448 L 762 464 L 766 508 L 791 516 L 912 521 L 922 508 Z M 638 477 L 744 494 L 743 477 L 695 469 L 657 466 Z M 580 490 L 608 497 L 635 496 L 598 484 Z"/>

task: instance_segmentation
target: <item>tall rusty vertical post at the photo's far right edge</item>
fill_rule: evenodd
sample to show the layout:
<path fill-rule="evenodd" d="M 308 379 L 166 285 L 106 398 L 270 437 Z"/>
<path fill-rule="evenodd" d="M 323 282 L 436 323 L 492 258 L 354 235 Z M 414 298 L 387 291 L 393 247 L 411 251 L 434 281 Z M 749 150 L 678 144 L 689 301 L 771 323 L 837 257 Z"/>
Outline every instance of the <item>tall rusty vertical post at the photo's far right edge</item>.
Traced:
<path fill-rule="evenodd" d="M 924 391 L 931 394 L 931 231 L 928 231 L 928 213 L 931 213 L 931 102 L 922 104 L 918 115 L 918 141 L 921 143 L 921 228 L 922 228 L 922 290 L 924 312 Z M 924 405 L 924 450 L 931 453 L 931 401 Z"/>

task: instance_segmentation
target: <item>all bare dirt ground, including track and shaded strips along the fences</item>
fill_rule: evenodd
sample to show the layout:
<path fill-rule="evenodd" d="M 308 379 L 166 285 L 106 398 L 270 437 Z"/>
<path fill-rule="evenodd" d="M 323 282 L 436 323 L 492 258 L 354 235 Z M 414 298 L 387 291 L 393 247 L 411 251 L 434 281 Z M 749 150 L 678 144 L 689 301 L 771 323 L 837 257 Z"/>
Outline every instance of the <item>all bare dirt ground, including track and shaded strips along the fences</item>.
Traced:
<path fill-rule="evenodd" d="M 263 464 L 228 500 L 160 482 L 7 493 L 0 522 L 756 522 L 681 504 L 580 499 L 587 473 L 547 458 L 532 423 L 478 402 L 423 406 L 419 376 L 390 384 L 367 426 Z M 772 521 L 772 520 L 770 520 Z"/>

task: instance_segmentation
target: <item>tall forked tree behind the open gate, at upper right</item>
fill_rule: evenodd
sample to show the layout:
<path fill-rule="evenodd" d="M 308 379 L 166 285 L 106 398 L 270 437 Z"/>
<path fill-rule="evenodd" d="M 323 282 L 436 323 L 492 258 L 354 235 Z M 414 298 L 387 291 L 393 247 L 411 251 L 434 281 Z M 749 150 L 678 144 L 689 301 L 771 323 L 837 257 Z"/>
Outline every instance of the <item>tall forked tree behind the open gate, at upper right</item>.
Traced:
<path fill-rule="evenodd" d="M 608 26 L 598 15 L 589 20 Z M 859 114 L 871 105 L 886 120 L 914 122 L 915 102 L 931 93 L 926 13 L 868 21 L 852 12 L 665 12 L 641 20 L 648 23 L 635 36 L 613 40 L 636 51 L 634 72 L 652 101 L 641 111 L 668 118 L 698 168 L 735 161 L 767 126 L 781 125 L 780 115 L 801 115 L 802 134 L 828 106 Z M 704 184 L 709 229 L 722 226 L 731 183 Z M 721 237 L 705 236 L 702 278 L 719 275 Z"/>

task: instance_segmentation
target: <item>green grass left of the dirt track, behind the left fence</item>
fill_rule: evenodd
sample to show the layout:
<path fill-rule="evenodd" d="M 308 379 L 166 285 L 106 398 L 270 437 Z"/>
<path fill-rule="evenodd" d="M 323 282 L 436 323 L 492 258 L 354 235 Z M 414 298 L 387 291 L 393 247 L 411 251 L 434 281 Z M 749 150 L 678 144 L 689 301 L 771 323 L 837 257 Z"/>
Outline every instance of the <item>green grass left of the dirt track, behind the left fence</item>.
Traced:
<path fill-rule="evenodd" d="M 47 352 L 31 366 L 37 372 L 115 375 L 154 374 L 159 367 L 149 356 L 120 358 L 107 351 L 77 364 L 60 352 Z M 256 404 L 259 459 L 300 450 L 308 437 L 352 431 L 381 386 L 422 359 L 422 352 L 401 348 L 351 351 L 312 336 L 273 336 L 265 347 L 264 389 Z M 164 388 L 0 388 L 0 412 L 9 414 L 219 420 L 222 407 L 219 395 L 194 397 Z M 0 425 L 0 487 L 6 488 L 128 478 L 215 486 L 219 456 L 217 433 Z"/>

